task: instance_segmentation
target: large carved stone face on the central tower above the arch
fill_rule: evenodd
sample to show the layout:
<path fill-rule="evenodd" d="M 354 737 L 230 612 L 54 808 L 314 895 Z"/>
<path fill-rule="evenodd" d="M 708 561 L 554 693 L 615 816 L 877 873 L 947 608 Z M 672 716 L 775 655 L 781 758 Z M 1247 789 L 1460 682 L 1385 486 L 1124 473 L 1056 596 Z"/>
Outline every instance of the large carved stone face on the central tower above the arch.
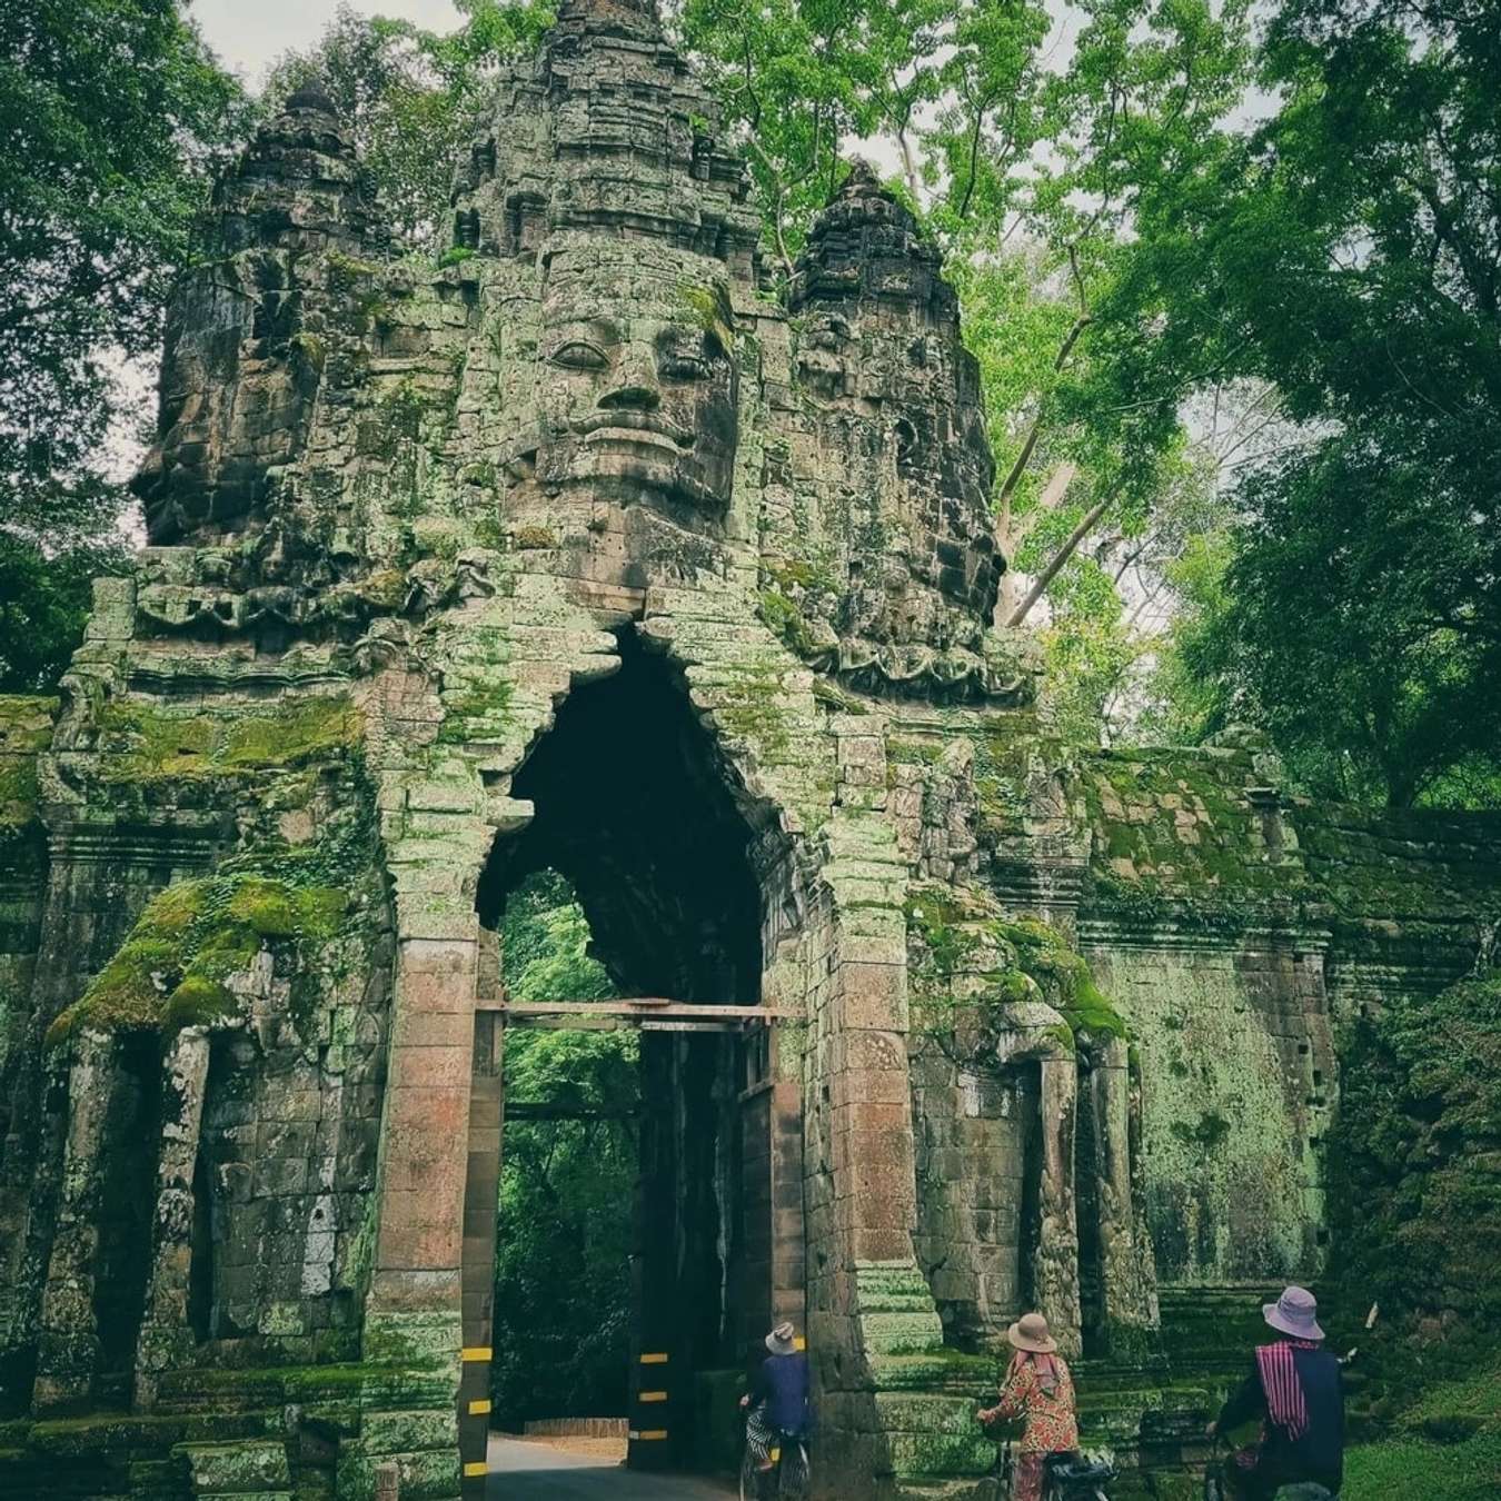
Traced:
<path fill-rule="evenodd" d="M 645 242 L 555 254 L 540 330 L 543 488 L 719 516 L 738 441 L 731 314 L 705 261 Z"/>

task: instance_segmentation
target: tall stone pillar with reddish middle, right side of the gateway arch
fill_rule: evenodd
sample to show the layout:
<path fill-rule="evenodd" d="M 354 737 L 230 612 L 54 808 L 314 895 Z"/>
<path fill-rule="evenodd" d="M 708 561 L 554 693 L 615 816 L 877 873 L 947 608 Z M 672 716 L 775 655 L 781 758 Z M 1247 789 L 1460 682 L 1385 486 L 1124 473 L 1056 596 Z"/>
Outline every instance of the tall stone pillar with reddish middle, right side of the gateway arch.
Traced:
<path fill-rule="evenodd" d="M 838 805 L 823 868 L 827 955 L 814 959 L 808 1084 L 809 1348 L 824 1421 L 821 1468 L 862 1495 L 908 1469 L 911 1418 L 883 1391 L 892 1357 L 935 1351 L 943 1324 L 917 1265 L 917 1174 L 907 1063 L 907 865 L 884 817 L 884 725 L 832 716 Z M 818 944 L 823 949 L 823 944 Z M 827 982 L 818 970 L 827 970 Z M 827 1163 L 829 1183 L 820 1184 Z M 832 1198 L 829 1195 L 832 1193 Z"/>

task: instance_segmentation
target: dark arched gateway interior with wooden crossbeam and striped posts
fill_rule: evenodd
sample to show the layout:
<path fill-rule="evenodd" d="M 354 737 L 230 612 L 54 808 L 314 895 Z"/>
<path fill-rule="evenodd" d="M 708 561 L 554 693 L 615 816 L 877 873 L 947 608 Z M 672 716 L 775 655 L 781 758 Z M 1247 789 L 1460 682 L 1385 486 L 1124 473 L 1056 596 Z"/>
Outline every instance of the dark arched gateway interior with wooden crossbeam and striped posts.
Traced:
<path fill-rule="evenodd" d="M 516 1052 L 527 1046 L 521 1034 L 537 1028 L 633 1031 L 638 1162 L 615 1207 L 629 1217 L 629 1460 L 642 1468 L 713 1463 L 716 1423 L 720 1447 L 732 1427 L 728 1373 L 744 1367 L 773 1312 L 788 1310 L 773 1273 L 788 1256 L 775 1256 L 773 1241 L 785 1250 L 796 1238 L 799 1255 L 802 1244 L 800 1171 L 788 1162 L 800 1151 L 796 1117 L 790 1130 L 785 1108 L 779 1115 L 767 1099 L 770 1024 L 744 1015 L 761 1000 L 766 871 L 785 847 L 731 775 L 669 663 L 627 633 L 620 671 L 576 689 L 518 773 L 512 796 L 534 817 L 497 839 L 476 902 L 483 944 L 464 1226 L 467 1354 L 492 1349 L 495 1330 L 507 1037 Z M 539 872 L 557 872 L 576 893 L 609 1000 L 515 994 L 506 907 Z M 566 1120 L 569 1102 L 518 1097 L 516 1112 Z M 717 1372 L 726 1378 L 716 1381 Z M 465 1460 L 483 1457 L 488 1396 L 486 1363 L 471 1358 Z M 480 1409 L 473 1417 L 470 1403 Z"/>

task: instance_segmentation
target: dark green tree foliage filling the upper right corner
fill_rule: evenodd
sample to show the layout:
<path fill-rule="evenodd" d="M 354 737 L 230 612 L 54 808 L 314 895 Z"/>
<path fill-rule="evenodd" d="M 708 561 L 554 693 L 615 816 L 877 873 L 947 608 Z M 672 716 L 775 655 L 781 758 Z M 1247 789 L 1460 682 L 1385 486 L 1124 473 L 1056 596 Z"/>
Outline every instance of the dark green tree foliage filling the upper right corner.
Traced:
<path fill-rule="evenodd" d="M 1285 0 L 1274 107 L 1141 179 L 1132 360 L 1274 384 L 1300 425 L 1237 485 L 1205 696 L 1306 787 L 1490 799 L 1501 705 L 1495 17 L 1439 0 Z M 1184 662 L 1192 663 L 1192 654 Z M 1192 714 L 1190 714 L 1192 716 Z"/>

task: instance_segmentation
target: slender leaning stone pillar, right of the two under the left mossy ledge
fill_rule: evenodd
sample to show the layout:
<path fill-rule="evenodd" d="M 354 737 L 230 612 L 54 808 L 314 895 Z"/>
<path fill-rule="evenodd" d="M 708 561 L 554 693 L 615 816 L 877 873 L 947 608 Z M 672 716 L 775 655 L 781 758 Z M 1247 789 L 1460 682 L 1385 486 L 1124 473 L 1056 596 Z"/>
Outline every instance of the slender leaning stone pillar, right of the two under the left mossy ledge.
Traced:
<path fill-rule="evenodd" d="M 161 1156 L 156 1166 L 156 1217 L 152 1280 L 146 1318 L 135 1352 L 135 1405 L 150 1411 L 164 1370 L 192 1355 L 188 1289 L 192 1279 L 194 1168 L 203 1130 L 209 1081 L 209 1034 L 189 1028 L 177 1034 L 165 1063 Z"/>

